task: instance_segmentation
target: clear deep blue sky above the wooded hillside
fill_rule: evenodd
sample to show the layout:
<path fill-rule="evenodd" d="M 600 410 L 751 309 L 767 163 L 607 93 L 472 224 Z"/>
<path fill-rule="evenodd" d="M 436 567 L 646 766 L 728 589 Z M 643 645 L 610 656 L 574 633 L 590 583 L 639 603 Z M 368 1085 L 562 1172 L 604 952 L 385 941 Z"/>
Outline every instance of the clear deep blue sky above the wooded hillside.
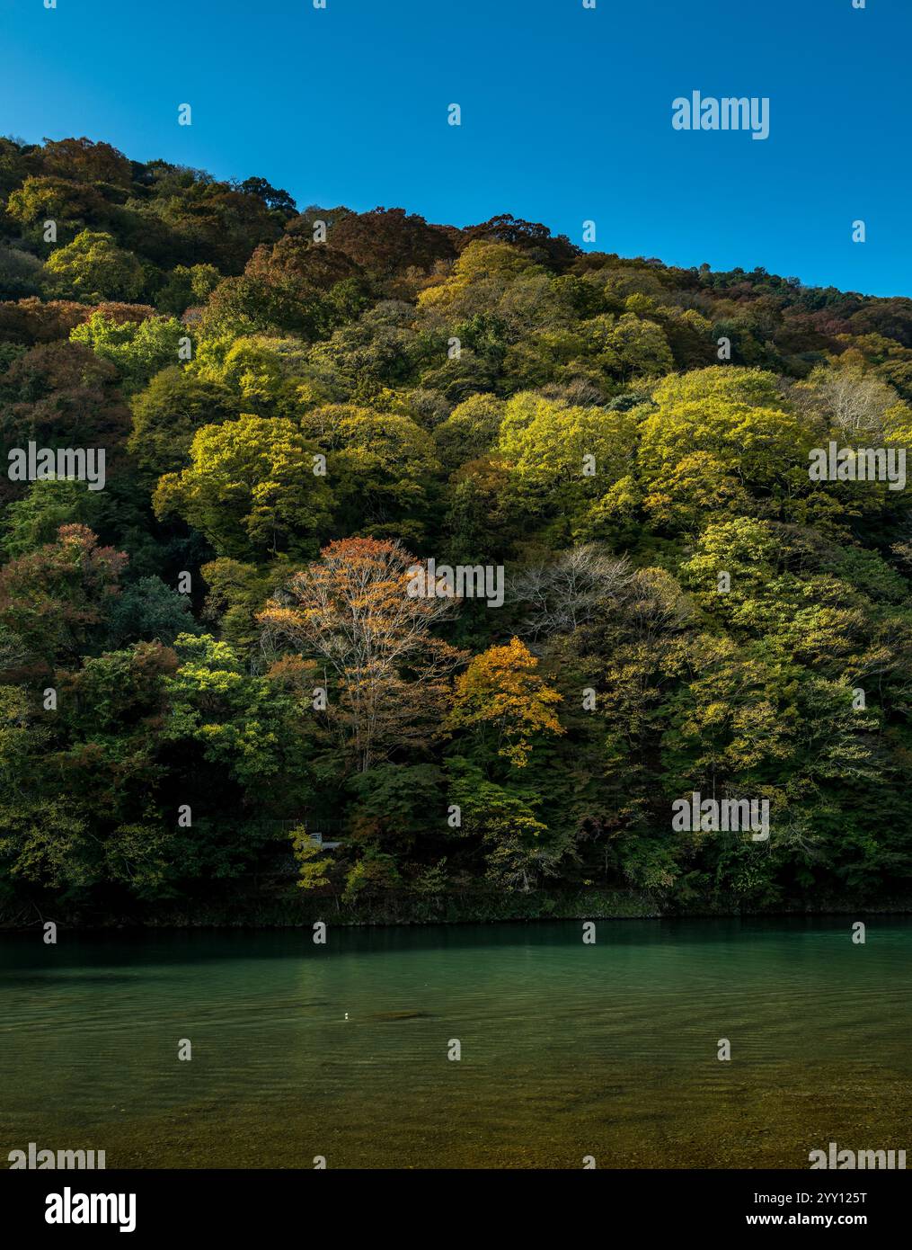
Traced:
<path fill-rule="evenodd" d="M 0 131 L 912 295 L 911 52 L 912 0 L 0 0 Z M 672 130 L 695 89 L 770 138 Z"/>

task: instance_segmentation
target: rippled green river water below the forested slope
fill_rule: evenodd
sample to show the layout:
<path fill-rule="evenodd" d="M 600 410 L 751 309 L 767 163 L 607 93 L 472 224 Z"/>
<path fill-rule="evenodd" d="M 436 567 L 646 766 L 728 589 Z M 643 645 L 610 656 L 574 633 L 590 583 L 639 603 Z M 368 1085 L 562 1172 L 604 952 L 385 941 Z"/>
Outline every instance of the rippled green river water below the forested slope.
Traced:
<path fill-rule="evenodd" d="M 912 1148 L 912 920 L 868 918 L 865 945 L 851 918 L 596 935 L 4 935 L 0 1166 L 30 1141 L 107 1168 L 806 1169 L 830 1141 Z"/>

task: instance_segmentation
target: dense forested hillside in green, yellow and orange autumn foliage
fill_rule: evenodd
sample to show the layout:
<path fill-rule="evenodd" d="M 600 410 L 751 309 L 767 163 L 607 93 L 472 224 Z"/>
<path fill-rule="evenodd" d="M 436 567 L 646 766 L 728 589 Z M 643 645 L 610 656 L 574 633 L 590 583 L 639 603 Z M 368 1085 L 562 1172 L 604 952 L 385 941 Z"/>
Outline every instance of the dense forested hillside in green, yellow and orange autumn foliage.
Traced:
<path fill-rule="evenodd" d="M 912 300 L 87 139 L 0 140 L 0 300 L 6 918 L 907 888 L 910 489 L 808 462 L 908 442 Z"/>

